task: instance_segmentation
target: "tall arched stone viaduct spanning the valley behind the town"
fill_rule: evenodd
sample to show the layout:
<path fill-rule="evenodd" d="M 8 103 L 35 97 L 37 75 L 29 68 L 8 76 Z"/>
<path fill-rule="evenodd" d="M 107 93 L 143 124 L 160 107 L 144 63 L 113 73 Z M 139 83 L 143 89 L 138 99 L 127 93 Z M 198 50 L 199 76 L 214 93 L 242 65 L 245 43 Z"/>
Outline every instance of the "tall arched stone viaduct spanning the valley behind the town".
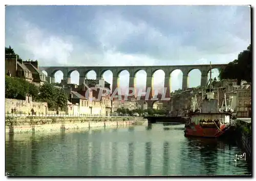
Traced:
<path fill-rule="evenodd" d="M 225 69 L 227 64 L 211 64 L 212 69 Z M 157 70 L 162 70 L 165 73 L 164 78 L 164 87 L 167 87 L 166 97 L 170 95 L 170 74 L 174 70 L 181 70 L 183 73 L 182 79 L 182 89 L 187 89 L 188 87 L 188 73 L 191 70 L 198 69 L 201 71 L 201 86 L 207 84 L 207 75 L 210 70 L 210 64 L 201 64 L 201 65 L 157 65 L 157 66 L 41 66 L 39 67 L 41 71 L 46 71 L 48 76 L 51 77 L 52 82 L 54 82 L 54 75 L 57 71 L 63 73 L 63 79 L 67 83 L 71 83 L 70 75 L 73 71 L 78 71 L 79 73 L 79 85 L 84 82 L 84 79 L 87 78 L 87 73 L 90 71 L 95 71 L 96 78 L 100 79 L 103 77 L 105 71 L 111 71 L 113 73 L 113 84 L 112 91 L 119 86 L 119 74 L 126 70 L 130 73 L 129 86 L 135 87 L 135 75 L 138 71 L 144 70 L 147 74 L 146 78 L 146 89 L 148 87 L 153 88 L 153 74 Z M 152 97 L 153 92 L 151 91 L 150 98 Z"/>

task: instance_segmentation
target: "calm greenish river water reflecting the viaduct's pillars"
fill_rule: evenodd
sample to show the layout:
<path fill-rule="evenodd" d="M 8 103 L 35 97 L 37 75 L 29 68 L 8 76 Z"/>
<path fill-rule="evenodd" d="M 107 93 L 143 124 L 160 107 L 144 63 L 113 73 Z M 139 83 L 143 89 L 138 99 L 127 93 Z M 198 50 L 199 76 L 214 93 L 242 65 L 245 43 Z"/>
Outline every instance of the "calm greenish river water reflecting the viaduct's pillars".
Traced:
<path fill-rule="evenodd" d="M 15 176 L 244 175 L 234 144 L 184 137 L 184 124 L 6 135 Z"/>

